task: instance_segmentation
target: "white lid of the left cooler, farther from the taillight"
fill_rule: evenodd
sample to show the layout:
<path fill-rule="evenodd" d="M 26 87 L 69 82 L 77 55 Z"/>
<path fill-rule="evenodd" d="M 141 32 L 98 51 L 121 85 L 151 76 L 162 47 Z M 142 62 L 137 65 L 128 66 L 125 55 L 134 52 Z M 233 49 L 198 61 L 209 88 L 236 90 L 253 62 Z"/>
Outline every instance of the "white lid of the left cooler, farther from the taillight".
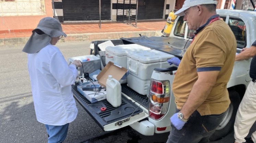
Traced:
<path fill-rule="evenodd" d="M 124 55 L 127 55 L 128 52 L 141 51 L 141 50 L 150 50 L 150 48 L 144 47 L 138 44 L 108 46 L 106 48 L 107 52 L 117 56 L 124 56 Z"/>

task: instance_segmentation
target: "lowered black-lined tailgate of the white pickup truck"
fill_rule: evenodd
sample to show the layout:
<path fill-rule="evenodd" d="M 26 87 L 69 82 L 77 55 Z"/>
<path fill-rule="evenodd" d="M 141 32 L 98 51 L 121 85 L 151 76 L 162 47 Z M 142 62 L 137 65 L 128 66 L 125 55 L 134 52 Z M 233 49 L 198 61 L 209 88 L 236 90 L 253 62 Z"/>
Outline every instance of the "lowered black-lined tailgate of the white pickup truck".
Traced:
<path fill-rule="evenodd" d="M 93 118 L 93 120 L 105 131 L 119 129 L 148 117 L 147 113 L 145 113 L 141 108 L 138 108 L 137 105 L 123 95 L 122 104 L 119 107 L 113 107 L 107 101 L 107 99 L 91 103 L 80 92 L 77 91 L 77 85 L 78 83 L 72 85 L 74 98 Z M 101 111 L 100 108 L 102 107 L 107 108 L 107 110 Z"/>

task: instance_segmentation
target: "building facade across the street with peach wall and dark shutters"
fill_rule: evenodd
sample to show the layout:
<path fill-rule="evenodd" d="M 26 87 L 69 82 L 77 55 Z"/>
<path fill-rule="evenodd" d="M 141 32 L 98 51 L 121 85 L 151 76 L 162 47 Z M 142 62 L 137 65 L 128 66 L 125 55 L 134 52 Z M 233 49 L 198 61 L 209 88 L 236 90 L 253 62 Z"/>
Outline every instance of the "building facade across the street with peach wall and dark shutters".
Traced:
<path fill-rule="evenodd" d="M 54 0 L 52 4 L 52 0 L 0 0 L 0 33 L 12 33 L 15 29 L 31 31 L 44 17 L 55 17 L 60 22 L 98 21 L 100 16 L 101 20 L 124 21 L 134 20 L 137 13 L 138 20 L 167 19 L 171 10 L 181 9 L 184 1 L 100 0 L 99 4 L 99 0 Z M 217 1 L 218 9 L 254 9 L 251 0 Z"/>

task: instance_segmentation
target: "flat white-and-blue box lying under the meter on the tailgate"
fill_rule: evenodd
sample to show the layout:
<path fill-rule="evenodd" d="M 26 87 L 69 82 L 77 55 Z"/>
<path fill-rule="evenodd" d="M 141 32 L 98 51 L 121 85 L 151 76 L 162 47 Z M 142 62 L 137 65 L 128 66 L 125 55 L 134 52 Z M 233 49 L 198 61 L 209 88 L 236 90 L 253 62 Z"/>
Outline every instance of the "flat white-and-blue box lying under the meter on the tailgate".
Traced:
<path fill-rule="evenodd" d="M 95 81 L 93 82 L 95 85 L 98 84 L 98 81 Z M 86 84 L 86 85 L 93 85 L 93 83 L 89 83 L 89 84 Z M 83 91 L 82 88 L 83 88 L 84 85 L 78 85 L 77 86 L 77 91 L 80 92 L 82 95 L 84 95 L 85 98 L 87 98 L 91 103 L 94 103 L 94 102 L 98 102 L 100 100 L 104 100 L 104 99 L 107 99 L 107 92 L 104 91 L 104 89 L 101 89 L 100 92 L 97 92 L 95 94 L 94 91 Z M 98 95 L 97 95 L 98 94 Z"/>

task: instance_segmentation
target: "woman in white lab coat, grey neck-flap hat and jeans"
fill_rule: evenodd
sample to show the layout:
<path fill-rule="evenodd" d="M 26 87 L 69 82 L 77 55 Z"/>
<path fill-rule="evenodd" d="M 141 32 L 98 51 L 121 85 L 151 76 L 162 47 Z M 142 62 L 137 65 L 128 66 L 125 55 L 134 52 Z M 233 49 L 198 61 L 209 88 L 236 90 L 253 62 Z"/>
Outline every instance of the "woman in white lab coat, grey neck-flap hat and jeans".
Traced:
<path fill-rule="evenodd" d="M 77 115 L 71 85 L 81 62 L 68 65 L 54 46 L 62 36 L 66 37 L 58 20 L 45 17 L 32 32 L 22 51 L 28 53 L 27 66 L 36 118 L 46 126 L 48 143 L 61 143 L 66 138 L 69 123 Z"/>

